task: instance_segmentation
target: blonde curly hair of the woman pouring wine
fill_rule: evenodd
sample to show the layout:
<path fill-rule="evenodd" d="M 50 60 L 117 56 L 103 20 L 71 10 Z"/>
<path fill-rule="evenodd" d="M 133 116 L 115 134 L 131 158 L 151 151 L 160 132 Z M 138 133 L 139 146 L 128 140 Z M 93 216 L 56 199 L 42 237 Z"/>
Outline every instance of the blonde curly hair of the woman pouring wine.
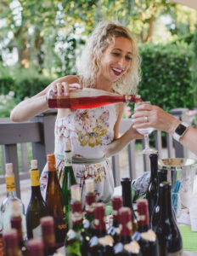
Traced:
<path fill-rule="evenodd" d="M 94 87 L 95 81 L 101 73 L 101 56 L 104 50 L 115 38 L 128 38 L 132 43 L 132 61 L 120 79 L 113 84 L 112 89 L 117 93 L 136 93 L 141 78 L 140 56 L 138 46 L 132 38 L 131 32 L 119 22 L 102 21 L 93 30 L 87 41 L 82 57 L 77 65 L 77 72 L 83 87 Z"/>

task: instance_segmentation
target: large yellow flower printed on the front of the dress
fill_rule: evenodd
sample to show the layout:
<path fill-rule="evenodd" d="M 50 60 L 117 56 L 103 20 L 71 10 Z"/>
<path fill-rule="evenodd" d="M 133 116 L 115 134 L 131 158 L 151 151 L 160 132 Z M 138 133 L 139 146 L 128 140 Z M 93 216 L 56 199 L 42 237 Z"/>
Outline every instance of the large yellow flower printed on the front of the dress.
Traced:
<path fill-rule="evenodd" d="M 82 133 L 82 131 L 76 130 L 78 134 L 78 141 L 82 147 L 85 147 L 88 143 L 89 147 L 101 145 L 102 137 L 107 133 L 107 125 L 104 125 L 102 119 L 96 121 L 96 126 L 93 127 L 93 131 Z"/>

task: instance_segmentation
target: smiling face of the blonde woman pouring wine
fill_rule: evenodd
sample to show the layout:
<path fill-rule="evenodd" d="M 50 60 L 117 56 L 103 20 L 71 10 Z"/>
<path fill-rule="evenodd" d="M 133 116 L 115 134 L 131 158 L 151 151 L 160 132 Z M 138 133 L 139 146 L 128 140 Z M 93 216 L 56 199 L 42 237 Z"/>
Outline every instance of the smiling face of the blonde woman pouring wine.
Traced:
<path fill-rule="evenodd" d="M 124 73 L 127 73 L 132 62 L 132 43 L 128 38 L 115 38 L 114 41 L 104 50 L 101 57 L 101 74 L 99 77 L 99 87 L 108 90 L 106 86 L 111 86 Z M 105 85 L 104 85 L 105 84 Z M 107 85 L 108 84 L 108 85 Z M 110 89 L 110 88 L 109 88 Z"/>

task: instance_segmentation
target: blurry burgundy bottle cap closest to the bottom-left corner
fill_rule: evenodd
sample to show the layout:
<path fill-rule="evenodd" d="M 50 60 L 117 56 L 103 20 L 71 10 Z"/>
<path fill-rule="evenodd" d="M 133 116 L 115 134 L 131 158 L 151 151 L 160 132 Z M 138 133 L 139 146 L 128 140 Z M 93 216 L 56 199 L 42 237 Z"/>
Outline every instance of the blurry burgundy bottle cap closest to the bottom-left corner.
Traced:
<path fill-rule="evenodd" d="M 17 230 L 5 230 L 3 231 L 3 240 L 5 248 L 15 248 L 18 247 L 18 233 Z"/>

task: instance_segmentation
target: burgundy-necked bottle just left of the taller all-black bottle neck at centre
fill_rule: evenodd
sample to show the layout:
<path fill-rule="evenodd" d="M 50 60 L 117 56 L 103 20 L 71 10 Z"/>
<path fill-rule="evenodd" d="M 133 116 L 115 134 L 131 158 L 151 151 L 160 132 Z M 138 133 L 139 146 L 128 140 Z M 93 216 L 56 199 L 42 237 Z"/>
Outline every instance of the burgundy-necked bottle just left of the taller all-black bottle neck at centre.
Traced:
<path fill-rule="evenodd" d="M 107 233 L 114 238 L 115 243 L 118 242 L 120 236 L 120 228 L 119 228 L 119 218 L 118 211 L 122 207 L 122 198 L 121 196 L 113 196 L 112 199 L 112 207 L 113 207 L 113 224 Z"/>

